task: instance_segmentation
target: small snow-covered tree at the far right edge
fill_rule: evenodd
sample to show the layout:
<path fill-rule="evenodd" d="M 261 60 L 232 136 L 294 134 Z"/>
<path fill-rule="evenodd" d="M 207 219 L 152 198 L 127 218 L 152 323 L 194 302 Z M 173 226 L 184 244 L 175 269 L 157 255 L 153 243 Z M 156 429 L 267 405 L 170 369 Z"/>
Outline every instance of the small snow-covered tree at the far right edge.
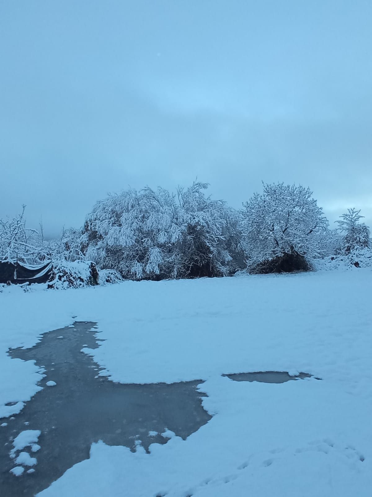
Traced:
<path fill-rule="evenodd" d="M 364 218 L 360 212 L 353 207 L 340 216 L 339 221 L 336 221 L 341 234 L 340 253 L 348 254 L 356 249 L 371 247 L 371 233 L 368 226 L 360 223 L 360 220 Z"/>

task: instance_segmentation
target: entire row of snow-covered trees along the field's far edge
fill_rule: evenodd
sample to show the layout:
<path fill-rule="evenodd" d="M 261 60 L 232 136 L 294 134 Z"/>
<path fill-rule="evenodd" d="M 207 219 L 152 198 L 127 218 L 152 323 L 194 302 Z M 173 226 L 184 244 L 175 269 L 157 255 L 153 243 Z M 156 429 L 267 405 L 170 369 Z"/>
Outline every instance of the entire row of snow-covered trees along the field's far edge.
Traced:
<path fill-rule="evenodd" d="M 263 183 L 233 209 L 212 200 L 207 187 L 195 181 L 175 193 L 145 187 L 109 195 L 81 229 L 63 230 L 52 242 L 42 229 L 26 229 L 23 209 L 0 220 L 0 260 L 93 261 L 105 274 L 160 280 L 311 270 L 340 257 L 359 265 L 371 257 L 360 211 L 348 209 L 331 229 L 309 188 Z"/>

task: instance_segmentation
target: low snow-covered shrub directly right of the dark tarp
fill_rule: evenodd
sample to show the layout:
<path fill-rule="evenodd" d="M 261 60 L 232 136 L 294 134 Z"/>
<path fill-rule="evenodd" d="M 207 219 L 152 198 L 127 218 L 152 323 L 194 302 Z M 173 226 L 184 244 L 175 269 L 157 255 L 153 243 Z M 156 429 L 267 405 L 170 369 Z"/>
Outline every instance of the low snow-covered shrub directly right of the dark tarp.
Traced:
<path fill-rule="evenodd" d="M 55 262 L 52 278 L 48 283 L 48 288 L 58 290 L 99 284 L 99 274 L 95 263 L 85 260 Z"/>

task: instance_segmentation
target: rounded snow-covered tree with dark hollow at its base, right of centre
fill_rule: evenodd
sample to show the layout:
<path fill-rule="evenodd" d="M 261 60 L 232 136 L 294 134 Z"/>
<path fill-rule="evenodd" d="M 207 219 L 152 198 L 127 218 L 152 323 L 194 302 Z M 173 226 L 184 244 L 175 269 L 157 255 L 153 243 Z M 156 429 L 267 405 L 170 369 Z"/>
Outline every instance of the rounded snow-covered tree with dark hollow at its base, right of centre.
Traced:
<path fill-rule="evenodd" d="M 324 253 L 328 221 L 309 188 L 263 183 L 242 211 L 242 247 L 251 272 L 309 269 Z"/>

